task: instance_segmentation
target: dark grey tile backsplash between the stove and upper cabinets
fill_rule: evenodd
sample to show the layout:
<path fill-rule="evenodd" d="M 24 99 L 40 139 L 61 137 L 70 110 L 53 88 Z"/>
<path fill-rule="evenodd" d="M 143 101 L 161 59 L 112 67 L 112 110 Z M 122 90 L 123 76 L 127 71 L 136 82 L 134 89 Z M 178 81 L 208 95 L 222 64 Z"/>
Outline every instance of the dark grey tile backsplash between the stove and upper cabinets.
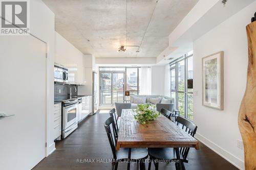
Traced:
<path fill-rule="evenodd" d="M 72 89 L 72 96 L 77 95 L 77 91 L 75 92 L 75 88 L 78 89 L 77 85 L 69 85 L 69 84 L 54 84 L 54 101 L 63 101 L 70 98 L 70 88 Z"/>

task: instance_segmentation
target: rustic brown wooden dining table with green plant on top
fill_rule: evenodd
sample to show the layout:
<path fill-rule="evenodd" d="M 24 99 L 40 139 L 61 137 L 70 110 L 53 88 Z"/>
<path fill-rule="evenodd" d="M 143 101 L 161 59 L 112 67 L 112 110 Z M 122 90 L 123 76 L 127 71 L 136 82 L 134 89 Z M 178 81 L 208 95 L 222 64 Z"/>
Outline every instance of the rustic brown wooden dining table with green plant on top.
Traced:
<path fill-rule="evenodd" d="M 118 118 L 119 132 L 116 149 L 129 148 L 129 159 L 131 159 L 131 148 L 174 148 L 179 160 L 179 168 L 182 169 L 179 148 L 199 150 L 197 139 L 162 114 L 145 125 L 139 124 L 134 119 L 135 114 L 133 109 L 123 109 Z M 130 163 L 127 169 L 130 169 Z"/>

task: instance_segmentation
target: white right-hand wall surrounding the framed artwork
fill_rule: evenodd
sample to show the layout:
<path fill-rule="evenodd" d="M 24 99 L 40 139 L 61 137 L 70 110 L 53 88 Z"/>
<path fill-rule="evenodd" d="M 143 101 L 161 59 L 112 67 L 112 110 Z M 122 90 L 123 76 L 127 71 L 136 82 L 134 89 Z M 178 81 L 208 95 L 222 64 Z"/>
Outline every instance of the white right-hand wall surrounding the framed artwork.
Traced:
<path fill-rule="evenodd" d="M 231 2 L 230 2 L 231 3 Z M 247 36 L 256 2 L 233 15 L 194 42 L 194 122 L 196 137 L 240 169 L 244 168 L 238 112 L 246 85 Z M 224 110 L 202 106 L 202 57 L 224 51 Z"/>

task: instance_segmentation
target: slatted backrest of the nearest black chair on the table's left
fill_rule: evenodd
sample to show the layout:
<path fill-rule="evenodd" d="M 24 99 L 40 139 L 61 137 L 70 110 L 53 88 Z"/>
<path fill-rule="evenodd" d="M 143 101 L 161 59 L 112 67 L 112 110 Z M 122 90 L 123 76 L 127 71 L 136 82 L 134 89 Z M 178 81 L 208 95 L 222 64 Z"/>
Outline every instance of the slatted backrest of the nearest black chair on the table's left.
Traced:
<path fill-rule="evenodd" d="M 105 127 L 106 134 L 109 138 L 113 158 L 116 159 L 116 143 L 117 143 L 118 133 L 116 130 L 114 117 L 109 117 L 108 119 L 106 119 L 106 121 L 104 122 L 104 127 Z M 111 130 L 111 127 L 112 127 L 112 130 Z"/>

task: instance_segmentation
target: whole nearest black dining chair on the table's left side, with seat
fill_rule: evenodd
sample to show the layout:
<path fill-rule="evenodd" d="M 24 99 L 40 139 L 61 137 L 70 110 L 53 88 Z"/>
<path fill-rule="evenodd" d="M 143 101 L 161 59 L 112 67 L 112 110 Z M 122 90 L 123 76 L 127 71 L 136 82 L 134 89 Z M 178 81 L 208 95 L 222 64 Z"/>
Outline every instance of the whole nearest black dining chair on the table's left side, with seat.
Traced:
<path fill-rule="evenodd" d="M 129 148 L 120 148 L 119 151 L 116 150 L 118 133 L 115 126 L 114 117 L 109 117 L 108 119 L 106 119 L 106 121 L 104 122 L 104 127 L 106 130 L 106 134 L 108 135 L 110 147 L 113 154 L 112 169 L 116 170 L 119 162 L 129 161 Z M 140 169 L 144 169 L 144 162 L 147 156 L 148 153 L 146 148 L 132 148 L 130 161 L 139 163 Z"/>

